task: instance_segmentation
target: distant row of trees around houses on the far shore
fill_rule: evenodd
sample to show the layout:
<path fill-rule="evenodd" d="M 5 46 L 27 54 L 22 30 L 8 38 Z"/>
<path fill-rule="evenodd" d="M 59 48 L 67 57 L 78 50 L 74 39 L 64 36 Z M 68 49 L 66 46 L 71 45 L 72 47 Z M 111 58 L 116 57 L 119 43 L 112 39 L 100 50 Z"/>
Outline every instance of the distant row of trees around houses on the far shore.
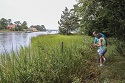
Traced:
<path fill-rule="evenodd" d="M 12 19 L 0 19 L 0 30 L 6 30 L 10 25 L 15 25 L 14 28 L 10 29 L 12 31 L 23 31 L 28 29 L 26 21 L 23 21 L 22 23 L 20 21 L 15 21 L 12 23 Z M 31 25 L 29 28 L 36 28 L 38 31 L 46 31 L 44 25 Z"/>

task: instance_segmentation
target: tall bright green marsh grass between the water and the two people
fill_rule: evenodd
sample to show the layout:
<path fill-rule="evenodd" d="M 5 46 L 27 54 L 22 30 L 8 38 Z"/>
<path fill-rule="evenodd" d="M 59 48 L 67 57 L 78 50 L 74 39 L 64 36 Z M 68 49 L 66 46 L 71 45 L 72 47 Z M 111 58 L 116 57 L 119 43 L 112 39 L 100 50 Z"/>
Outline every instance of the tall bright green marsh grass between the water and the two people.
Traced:
<path fill-rule="evenodd" d="M 84 36 L 84 38 L 88 38 Z M 29 48 L 1 56 L 1 82 L 75 83 L 93 79 L 91 38 L 47 35 L 32 38 Z M 63 49 L 62 49 L 63 42 Z M 63 50 L 63 51 L 62 51 Z M 89 50 L 89 51 L 88 51 Z"/>

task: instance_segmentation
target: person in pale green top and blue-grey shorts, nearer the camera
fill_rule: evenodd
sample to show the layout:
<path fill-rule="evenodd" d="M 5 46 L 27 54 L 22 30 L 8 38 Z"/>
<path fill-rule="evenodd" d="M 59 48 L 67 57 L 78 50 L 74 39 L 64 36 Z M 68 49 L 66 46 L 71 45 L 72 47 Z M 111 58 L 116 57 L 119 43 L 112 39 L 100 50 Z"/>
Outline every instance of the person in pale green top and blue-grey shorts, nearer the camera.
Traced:
<path fill-rule="evenodd" d="M 96 34 L 96 38 L 98 38 L 98 43 L 95 43 L 94 46 L 98 47 L 98 55 L 100 59 L 100 66 L 102 66 L 102 62 L 105 62 L 105 53 L 107 52 L 106 40 L 100 33 Z"/>

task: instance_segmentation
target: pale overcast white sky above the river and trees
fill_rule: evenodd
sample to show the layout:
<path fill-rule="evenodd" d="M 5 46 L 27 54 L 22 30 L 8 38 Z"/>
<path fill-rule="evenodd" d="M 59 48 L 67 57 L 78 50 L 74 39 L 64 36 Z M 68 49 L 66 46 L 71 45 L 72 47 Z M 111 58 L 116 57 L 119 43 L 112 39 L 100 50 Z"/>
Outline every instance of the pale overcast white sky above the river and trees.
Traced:
<path fill-rule="evenodd" d="M 0 0 L 0 19 L 26 21 L 28 27 L 44 25 L 46 29 L 58 29 L 62 11 L 74 4 L 76 0 Z"/>

